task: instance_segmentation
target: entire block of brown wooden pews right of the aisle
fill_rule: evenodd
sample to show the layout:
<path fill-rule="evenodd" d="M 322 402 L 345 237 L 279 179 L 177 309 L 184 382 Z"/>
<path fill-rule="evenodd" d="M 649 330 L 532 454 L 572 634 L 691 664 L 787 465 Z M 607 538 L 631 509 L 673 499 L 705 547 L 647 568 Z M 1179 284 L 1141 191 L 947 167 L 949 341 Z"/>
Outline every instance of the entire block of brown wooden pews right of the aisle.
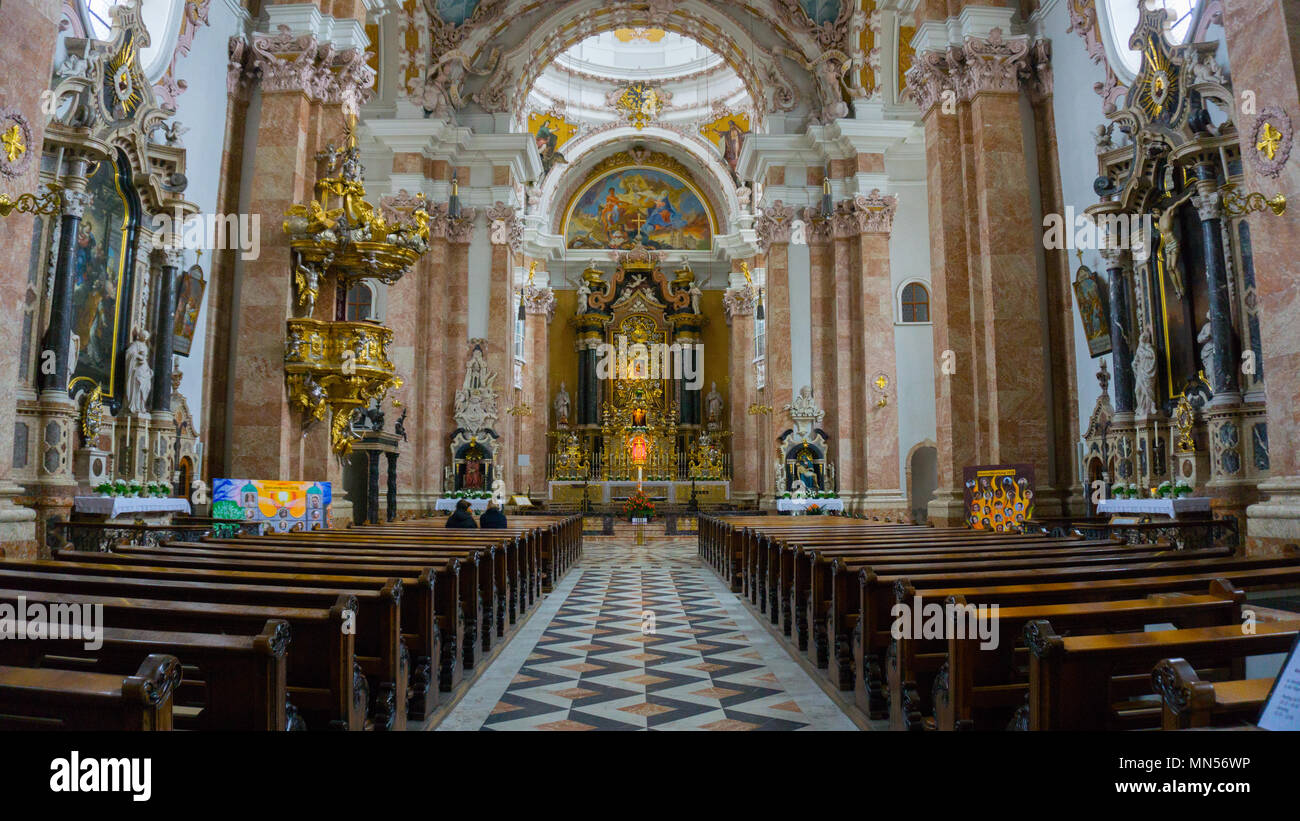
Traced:
<path fill-rule="evenodd" d="M 701 520 L 699 555 L 793 652 L 894 729 L 1228 721 L 1266 692 L 1244 678 L 1244 660 L 1286 652 L 1300 629 L 1243 630 L 1248 592 L 1300 587 L 1294 553 L 729 516 Z M 931 605 L 961 624 L 997 605 L 996 640 L 894 629 L 896 617 Z"/>

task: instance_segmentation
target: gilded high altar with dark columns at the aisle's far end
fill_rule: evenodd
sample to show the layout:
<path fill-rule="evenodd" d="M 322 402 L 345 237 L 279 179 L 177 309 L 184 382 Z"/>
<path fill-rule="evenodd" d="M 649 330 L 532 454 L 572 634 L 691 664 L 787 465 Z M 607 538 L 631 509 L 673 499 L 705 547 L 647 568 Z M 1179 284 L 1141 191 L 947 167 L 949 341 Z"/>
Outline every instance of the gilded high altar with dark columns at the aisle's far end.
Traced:
<path fill-rule="evenodd" d="M 649 252 L 627 255 L 608 279 L 582 273 L 569 321 L 576 396 L 562 387 L 549 433 L 552 501 L 614 503 L 638 483 L 675 503 L 729 498 L 731 431 L 703 373 L 699 297 L 689 265 L 670 279 Z"/>

